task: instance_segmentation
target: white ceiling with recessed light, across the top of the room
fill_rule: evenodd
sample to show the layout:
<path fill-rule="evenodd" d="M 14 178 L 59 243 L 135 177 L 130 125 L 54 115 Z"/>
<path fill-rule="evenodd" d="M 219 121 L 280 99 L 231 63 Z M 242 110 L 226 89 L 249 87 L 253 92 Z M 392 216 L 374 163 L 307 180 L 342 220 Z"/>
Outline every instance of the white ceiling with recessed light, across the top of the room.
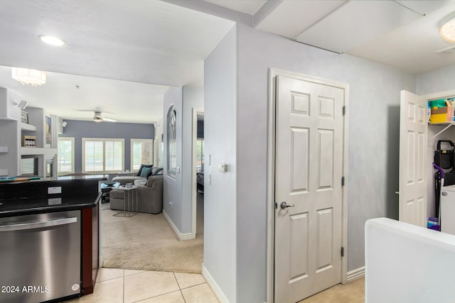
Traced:
<path fill-rule="evenodd" d="M 455 51 L 437 53 L 455 46 L 438 33 L 454 11 L 454 0 L 2 1 L 0 87 L 65 119 L 101 109 L 154 123 L 169 86 L 203 86 L 203 60 L 235 22 L 418 74 L 455 63 Z M 45 70 L 48 83 L 22 86 L 11 66 Z"/>

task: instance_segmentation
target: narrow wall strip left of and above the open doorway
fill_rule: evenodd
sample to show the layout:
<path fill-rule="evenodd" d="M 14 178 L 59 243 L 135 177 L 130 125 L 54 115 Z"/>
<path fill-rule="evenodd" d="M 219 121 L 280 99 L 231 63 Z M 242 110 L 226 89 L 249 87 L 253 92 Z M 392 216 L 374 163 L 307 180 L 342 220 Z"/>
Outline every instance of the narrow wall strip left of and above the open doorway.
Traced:
<path fill-rule="evenodd" d="M 183 87 L 183 155 L 182 155 L 182 233 L 191 233 L 193 189 L 193 109 L 204 108 L 204 91 L 200 87 Z"/>

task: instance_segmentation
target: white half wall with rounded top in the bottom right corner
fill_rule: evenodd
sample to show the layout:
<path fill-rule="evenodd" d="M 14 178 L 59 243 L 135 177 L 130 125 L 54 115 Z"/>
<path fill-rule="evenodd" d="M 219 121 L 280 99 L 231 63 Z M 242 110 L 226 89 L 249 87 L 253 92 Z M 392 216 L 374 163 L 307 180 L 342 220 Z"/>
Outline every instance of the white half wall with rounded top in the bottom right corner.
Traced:
<path fill-rule="evenodd" d="M 368 220 L 365 258 L 365 303 L 454 302 L 454 235 Z"/>

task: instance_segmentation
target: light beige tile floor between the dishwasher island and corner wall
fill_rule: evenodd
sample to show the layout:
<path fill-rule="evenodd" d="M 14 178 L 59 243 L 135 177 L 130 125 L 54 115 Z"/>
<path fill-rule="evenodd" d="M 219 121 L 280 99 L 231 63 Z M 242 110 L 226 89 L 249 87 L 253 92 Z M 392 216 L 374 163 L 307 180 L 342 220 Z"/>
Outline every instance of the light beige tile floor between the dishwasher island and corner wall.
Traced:
<path fill-rule="evenodd" d="M 67 302 L 218 303 L 202 275 L 100 268 L 95 292 Z"/>

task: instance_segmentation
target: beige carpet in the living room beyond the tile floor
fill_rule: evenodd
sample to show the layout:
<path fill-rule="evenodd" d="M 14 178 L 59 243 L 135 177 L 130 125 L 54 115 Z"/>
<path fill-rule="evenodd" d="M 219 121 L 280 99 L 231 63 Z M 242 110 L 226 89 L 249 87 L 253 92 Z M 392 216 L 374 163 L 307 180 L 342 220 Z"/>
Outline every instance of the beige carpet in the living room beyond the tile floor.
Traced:
<path fill-rule="evenodd" d="M 202 272 L 202 233 L 179 241 L 163 214 L 112 216 L 117 212 L 107 207 L 101 211 L 103 267 Z"/>

